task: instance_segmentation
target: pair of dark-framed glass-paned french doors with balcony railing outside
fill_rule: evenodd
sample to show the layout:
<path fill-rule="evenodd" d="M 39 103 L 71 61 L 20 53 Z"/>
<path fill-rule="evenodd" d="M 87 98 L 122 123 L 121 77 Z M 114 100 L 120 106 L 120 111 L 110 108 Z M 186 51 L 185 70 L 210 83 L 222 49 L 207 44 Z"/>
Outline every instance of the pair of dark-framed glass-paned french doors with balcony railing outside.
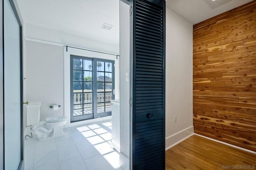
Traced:
<path fill-rule="evenodd" d="M 114 61 L 70 55 L 70 120 L 111 115 Z"/>

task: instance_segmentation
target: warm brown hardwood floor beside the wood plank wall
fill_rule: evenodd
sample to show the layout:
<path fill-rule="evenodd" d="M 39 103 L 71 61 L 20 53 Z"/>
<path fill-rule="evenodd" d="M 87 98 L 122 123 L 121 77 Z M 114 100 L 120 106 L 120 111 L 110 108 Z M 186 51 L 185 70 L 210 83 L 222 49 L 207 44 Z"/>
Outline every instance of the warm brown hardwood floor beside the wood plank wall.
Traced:
<path fill-rule="evenodd" d="M 256 169 L 256 154 L 193 135 L 166 151 L 166 170 Z"/>

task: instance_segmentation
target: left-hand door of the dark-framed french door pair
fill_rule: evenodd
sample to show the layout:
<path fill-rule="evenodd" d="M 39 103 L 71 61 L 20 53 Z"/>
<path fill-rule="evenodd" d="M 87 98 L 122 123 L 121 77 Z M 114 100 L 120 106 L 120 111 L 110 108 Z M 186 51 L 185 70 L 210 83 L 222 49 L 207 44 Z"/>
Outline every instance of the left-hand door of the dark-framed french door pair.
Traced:
<path fill-rule="evenodd" d="M 71 65 L 71 122 L 93 118 L 93 63 L 91 58 L 72 56 Z"/>

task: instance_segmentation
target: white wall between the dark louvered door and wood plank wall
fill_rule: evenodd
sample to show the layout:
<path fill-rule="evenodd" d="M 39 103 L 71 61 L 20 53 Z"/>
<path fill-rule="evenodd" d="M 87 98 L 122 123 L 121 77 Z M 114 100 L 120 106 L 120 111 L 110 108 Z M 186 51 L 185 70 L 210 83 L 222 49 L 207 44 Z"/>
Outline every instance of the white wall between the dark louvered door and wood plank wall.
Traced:
<path fill-rule="evenodd" d="M 193 25 L 166 8 L 166 148 L 193 133 L 192 54 Z"/>

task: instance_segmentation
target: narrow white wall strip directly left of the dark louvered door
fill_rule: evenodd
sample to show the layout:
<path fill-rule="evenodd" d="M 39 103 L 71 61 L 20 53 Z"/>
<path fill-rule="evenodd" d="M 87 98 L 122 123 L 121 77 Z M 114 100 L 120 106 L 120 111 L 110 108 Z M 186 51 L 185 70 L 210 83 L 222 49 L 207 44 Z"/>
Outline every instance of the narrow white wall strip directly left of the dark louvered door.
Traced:
<path fill-rule="evenodd" d="M 120 1 L 120 152 L 130 146 L 130 6 Z M 128 74 L 128 76 L 126 76 Z M 122 167 L 124 168 L 124 167 Z"/>

